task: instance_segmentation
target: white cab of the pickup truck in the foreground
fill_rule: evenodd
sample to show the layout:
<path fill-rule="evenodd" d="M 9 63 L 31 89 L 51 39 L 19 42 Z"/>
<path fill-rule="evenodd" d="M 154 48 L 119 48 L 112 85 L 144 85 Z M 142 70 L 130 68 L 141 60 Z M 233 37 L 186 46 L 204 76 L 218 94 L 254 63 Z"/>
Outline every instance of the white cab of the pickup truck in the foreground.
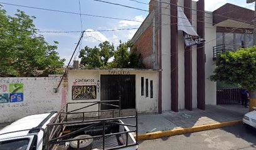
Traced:
<path fill-rule="evenodd" d="M 45 128 L 56 112 L 26 116 L 0 130 L 0 149 L 41 150 L 45 146 Z"/>

